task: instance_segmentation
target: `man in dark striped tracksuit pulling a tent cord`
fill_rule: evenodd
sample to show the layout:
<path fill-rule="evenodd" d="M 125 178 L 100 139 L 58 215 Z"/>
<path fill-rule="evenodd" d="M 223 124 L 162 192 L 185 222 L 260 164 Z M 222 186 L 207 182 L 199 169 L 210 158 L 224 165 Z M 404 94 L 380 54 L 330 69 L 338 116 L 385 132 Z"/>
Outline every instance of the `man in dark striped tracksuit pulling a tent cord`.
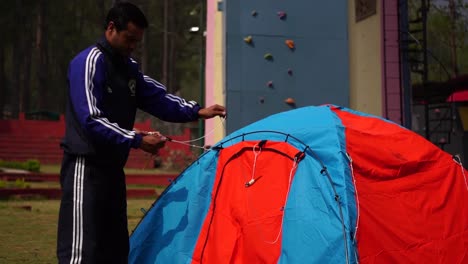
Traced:
<path fill-rule="evenodd" d="M 118 3 L 107 15 L 105 36 L 70 63 L 69 102 L 60 181 L 59 263 L 127 263 L 126 186 L 130 148 L 156 153 L 159 134 L 132 131 L 136 109 L 162 120 L 189 122 L 224 116 L 219 105 L 166 93 L 129 56 L 148 22 L 133 4 Z"/>

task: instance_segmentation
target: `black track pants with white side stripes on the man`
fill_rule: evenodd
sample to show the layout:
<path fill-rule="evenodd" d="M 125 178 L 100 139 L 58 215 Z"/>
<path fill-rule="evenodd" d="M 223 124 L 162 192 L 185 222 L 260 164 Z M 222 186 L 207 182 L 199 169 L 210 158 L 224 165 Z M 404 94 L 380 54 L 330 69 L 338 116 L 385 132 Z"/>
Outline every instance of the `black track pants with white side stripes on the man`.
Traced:
<path fill-rule="evenodd" d="M 58 222 L 59 263 L 128 262 L 125 175 L 122 168 L 64 154 Z"/>

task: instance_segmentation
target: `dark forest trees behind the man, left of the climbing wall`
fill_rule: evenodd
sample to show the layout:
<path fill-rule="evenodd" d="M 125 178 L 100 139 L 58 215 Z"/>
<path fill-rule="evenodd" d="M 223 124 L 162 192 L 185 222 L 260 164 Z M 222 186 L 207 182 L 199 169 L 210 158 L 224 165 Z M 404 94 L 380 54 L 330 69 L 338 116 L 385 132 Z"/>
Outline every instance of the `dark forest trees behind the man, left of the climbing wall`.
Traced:
<path fill-rule="evenodd" d="M 0 1 L 0 118 L 38 110 L 63 113 L 68 63 L 103 35 L 113 2 Z M 169 92 L 200 100 L 203 36 L 191 35 L 188 29 L 203 22 L 201 2 L 131 2 L 141 7 L 150 23 L 134 54 L 142 70 L 166 84 Z"/>

